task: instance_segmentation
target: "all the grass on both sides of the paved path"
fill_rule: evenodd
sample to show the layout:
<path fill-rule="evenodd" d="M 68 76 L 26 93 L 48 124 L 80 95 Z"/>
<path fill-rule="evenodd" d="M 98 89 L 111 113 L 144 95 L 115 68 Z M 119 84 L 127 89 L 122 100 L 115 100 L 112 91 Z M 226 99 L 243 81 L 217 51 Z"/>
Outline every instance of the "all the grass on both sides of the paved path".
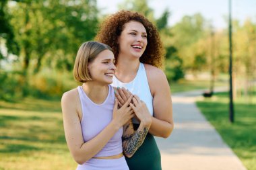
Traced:
<path fill-rule="evenodd" d="M 170 87 L 172 93 L 207 89 L 209 82 L 180 81 Z M 227 103 L 226 94 L 220 93 L 197 104 L 248 169 L 256 170 L 255 105 L 236 102 L 236 122 L 231 125 Z M 0 158 L 0 170 L 75 169 L 65 142 L 60 99 L 0 100 Z"/>

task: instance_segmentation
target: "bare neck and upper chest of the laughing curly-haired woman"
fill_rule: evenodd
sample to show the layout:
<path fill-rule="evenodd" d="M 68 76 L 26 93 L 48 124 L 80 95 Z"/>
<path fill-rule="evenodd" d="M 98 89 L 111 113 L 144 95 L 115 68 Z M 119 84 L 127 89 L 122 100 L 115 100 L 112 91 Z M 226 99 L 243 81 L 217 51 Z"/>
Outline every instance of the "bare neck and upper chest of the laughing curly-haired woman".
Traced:
<path fill-rule="evenodd" d="M 115 71 L 115 77 L 124 83 L 132 81 L 137 75 L 139 64 L 139 58 L 131 59 L 119 56 L 117 60 L 117 70 Z"/>

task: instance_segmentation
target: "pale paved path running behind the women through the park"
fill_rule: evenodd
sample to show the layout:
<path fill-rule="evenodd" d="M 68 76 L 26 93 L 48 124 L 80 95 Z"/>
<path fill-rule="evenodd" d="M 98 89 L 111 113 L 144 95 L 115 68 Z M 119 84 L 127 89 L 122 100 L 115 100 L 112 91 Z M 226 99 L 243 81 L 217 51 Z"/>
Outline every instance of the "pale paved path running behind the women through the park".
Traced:
<path fill-rule="evenodd" d="M 174 130 L 156 138 L 163 170 L 246 170 L 195 105 L 201 91 L 172 95 Z"/>

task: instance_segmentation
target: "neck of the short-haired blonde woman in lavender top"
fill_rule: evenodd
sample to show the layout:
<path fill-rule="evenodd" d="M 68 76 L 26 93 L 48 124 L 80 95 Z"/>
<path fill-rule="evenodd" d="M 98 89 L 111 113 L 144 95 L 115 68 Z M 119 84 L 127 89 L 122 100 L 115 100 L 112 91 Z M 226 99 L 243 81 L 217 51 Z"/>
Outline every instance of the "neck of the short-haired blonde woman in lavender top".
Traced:
<path fill-rule="evenodd" d="M 94 81 L 87 81 L 82 85 L 86 95 L 96 104 L 101 104 L 108 96 L 108 85 L 100 85 Z"/>

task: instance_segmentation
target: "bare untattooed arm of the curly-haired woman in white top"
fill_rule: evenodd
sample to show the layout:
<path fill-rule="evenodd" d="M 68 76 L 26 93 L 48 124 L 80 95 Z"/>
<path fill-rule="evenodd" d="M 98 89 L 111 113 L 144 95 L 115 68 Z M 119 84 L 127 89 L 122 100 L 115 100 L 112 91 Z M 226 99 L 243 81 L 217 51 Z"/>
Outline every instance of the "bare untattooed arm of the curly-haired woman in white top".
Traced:
<path fill-rule="evenodd" d="M 154 117 L 149 132 L 154 136 L 167 138 L 174 128 L 170 87 L 166 76 L 160 69 L 150 65 L 145 65 L 145 67 L 154 108 Z"/>

